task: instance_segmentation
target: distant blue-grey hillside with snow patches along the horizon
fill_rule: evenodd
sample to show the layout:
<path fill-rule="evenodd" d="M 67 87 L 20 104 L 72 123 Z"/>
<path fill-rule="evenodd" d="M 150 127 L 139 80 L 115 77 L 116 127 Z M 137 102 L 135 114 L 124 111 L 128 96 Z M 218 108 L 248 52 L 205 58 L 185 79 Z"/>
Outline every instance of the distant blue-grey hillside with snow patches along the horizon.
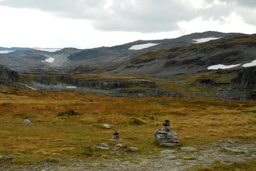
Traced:
<path fill-rule="evenodd" d="M 49 67 L 69 70 L 80 66 L 81 64 L 96 67 L 111 67 L 122 64 L 125 61 L 131 60 L 132 58 L 143 55 L 145 53 L 193 44 L 196 42 L 194 41 L 196 39 L 221 38 L 233 35 L 244 34 L 203 32 L 184 35 L 180 38 L 151 41 L 139 40 L 118 46 L 99 47 L 93 49 L 64 48 L 56 52 L 47 52 L 35 49 L 19 52 L 15 51 L 6 54 L 0 54 L 0 64 L 3 64 L 17 71 L 26 71 L 34 68 L 42 69 Z M 149 43 L 150 45 L 148 45 Z M 50 61 L 45 61 L 48 59 L 50 59 Z"/>

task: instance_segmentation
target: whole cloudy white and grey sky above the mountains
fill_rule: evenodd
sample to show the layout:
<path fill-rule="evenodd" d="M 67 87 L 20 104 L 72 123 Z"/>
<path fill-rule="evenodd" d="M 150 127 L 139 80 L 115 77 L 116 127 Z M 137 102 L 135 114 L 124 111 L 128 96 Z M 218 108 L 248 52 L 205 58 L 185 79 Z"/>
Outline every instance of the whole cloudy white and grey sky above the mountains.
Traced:
<path fill-rule="evenodd" d="M 80 49 L 256 33 L 255 0 L 0 0 L 0 46 Z"/>

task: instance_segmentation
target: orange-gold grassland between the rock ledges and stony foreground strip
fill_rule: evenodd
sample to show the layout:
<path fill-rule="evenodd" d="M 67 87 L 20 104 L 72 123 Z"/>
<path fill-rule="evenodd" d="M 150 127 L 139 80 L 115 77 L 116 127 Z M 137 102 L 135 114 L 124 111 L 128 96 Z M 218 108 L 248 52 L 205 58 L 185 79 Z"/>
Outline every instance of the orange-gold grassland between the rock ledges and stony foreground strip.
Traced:
<path fill-rule="evenodd" d="M 171 120 L 170 127 L 183 146 L 200 149 L 218 139 L 256 140 L 256 101 L 116 98 L 78 91 L 0 89 L 0 155 L 14 157 L 19 164 L 40 162 L 47 157 L 104 157 L 108 151 L 90 147 L 103 142 L 116 145 L 109 140 L 115 130 L 125 139 L 122 143 L 139 148 L 140 155 L 147 155 L 148 151 L 154 154 L 155 148 L 162 147 L 155 144 L 153 133 L 165 119 Z M 157 104 L 160 99 L 169 105 Z M 58 116 L 70 109 L 83 115 Z M 34 124 L 23 125 L 24 116 Z M 38 119 L 43 122 L 37 122 Z M 140 124 L 134 119 L 145 122 Z M 112 128 L 104 129 L 103 124 Z"/>

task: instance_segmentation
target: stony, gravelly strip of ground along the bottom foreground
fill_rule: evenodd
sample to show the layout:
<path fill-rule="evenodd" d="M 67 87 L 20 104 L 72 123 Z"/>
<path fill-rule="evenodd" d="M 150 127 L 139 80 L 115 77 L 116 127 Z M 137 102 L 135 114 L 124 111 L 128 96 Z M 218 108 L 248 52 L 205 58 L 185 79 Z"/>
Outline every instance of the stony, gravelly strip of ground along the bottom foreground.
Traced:
<path fill-rule="evenodd" d="M 111 159 L 48 159 L 50 162 L 33 163 L 27 165 L 3 165 L 0 171 L 186 171 L 196 165 L 224 164 L 232 168 L 234 162 L 244 162 L 256 159 L 255 142 L 239 143 L 228 139 L 218 140 L 212 146 L 181 147 L 180 149 L 166 149 L 148 151 L 147 156 L 140 155 L 139 151 L 127 153 L 114 150 L 108 154 Z M 103 150 L 104 151 L 104 150 Z M 0 161 L 7 163 L 15 161 L 14 158 L 0 157 Z M 210 168 L 208 168 L 210 169 Z"/>

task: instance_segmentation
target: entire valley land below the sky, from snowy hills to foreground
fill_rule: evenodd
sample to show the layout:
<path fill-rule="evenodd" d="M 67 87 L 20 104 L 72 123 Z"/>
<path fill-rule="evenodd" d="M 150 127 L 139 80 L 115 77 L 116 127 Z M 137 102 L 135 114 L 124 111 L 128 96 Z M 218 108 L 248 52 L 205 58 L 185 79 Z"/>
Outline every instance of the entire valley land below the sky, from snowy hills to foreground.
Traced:
<path fill-rule="evenodd" d="M 0 48 L 13 51 L 0 54 L 0 171 L 254 171 L 255 47 L 256 35 L 203 32 Z M 180 146 L 156 143 L 166 119 Z"/>

